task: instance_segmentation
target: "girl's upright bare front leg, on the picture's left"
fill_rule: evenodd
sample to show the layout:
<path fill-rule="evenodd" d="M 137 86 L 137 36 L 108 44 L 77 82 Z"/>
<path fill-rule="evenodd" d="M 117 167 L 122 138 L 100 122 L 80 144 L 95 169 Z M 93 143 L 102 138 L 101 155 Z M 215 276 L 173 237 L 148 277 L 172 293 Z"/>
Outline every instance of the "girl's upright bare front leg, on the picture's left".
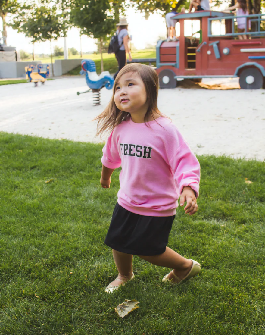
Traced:
<path fill-rule="evenodd" d="M 133 255 L 112 249 L 113 258 L 119 271 L 118 277 L 111 282 L 113 286 L 119 286 L 123 281 L 131 279 Z M 122 281 L 123 280 L 123 281 Z"/>

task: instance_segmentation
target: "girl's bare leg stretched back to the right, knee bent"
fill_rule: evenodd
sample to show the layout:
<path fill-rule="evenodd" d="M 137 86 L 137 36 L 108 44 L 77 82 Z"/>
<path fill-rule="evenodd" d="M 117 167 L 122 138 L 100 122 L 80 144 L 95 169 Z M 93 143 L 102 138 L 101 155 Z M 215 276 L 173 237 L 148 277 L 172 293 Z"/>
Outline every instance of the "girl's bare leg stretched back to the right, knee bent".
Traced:
<path fill-rule="evenodd" d="M 192 267 L 192 261 L 190 259 L 181 256 L 176 251 L 168 247 L 166 247 L 163 254 L 139 257 L 149 263 L 173 269 L 175 275 L 178 276 L 180 279 L 186 277 Z M 169 279 L 172 279 L 173 282 L 175 281 L 175 277 L 173 276 L 173 274 L 169 275 Z"/>

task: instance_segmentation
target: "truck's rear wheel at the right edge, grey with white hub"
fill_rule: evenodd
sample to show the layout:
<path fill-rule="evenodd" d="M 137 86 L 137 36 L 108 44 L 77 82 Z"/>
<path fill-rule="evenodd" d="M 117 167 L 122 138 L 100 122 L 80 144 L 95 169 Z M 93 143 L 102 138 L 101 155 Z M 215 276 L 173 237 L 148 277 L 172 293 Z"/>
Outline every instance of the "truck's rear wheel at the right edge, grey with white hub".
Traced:
<path fill-rule="evenodd" d="M 264 77 L 257 68 L 247 68 L 240 73 L 239 85 L 244 89 L 259 89 L 263 87 Z"/>

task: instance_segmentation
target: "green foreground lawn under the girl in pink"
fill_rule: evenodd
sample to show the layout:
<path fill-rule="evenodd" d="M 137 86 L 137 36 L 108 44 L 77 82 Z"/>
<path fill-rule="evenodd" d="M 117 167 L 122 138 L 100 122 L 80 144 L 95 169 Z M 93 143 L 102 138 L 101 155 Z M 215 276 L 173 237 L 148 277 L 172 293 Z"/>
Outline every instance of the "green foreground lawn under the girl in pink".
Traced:
<path fill-rule="evenodd" d="M 177 210 L 168 246 L 200 274 L 171 287 L 134 257 L 135 279 L 109 295 L 119 171 L 102 189 L 102 147 L 0 133 L 0 334 L 264 334 L 265 163 L 199 156 L 198 213 Z M 122 319 L 125 299 L 140 308 Z"/>

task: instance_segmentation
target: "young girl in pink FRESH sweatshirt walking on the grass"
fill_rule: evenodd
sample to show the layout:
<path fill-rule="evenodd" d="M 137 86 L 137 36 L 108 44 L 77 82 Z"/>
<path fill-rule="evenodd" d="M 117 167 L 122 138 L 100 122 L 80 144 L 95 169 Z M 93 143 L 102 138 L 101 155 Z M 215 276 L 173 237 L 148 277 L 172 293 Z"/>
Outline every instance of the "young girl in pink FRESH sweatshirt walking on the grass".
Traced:
<path fill-rule="evenodd" d="M 133 63 L 118 73 L 113 96 L 98 120 L 97 135 L 112 131 L 103 148 L 103 188 L 122 166 L 120 190 L 105 239 L 112 248 L 117 278 L 110 293 L 134 278 L 133 255 L 173 269 L 164 281 L 180 283 L 201 266 L 167 247 L 178 207 L 196 213 L 200 164 L 177 127 L 157 108 L 158 76 L 150 66 Z"/>

